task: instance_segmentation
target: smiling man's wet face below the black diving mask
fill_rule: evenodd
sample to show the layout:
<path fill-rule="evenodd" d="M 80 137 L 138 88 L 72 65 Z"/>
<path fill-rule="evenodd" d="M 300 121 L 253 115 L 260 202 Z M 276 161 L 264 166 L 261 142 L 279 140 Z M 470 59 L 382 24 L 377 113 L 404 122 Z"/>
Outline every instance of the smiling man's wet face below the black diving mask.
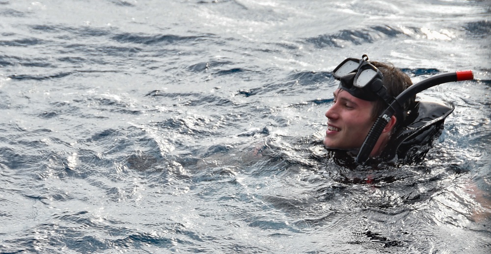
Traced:
<path fill-rule="evenodd" d="M 345 90 L 334 91 L 334 104 L 326 112 L 327 148 L 358 149 L 365 141 L 375 121 L 371 119 L 374 105 L 358 99 Z"/>

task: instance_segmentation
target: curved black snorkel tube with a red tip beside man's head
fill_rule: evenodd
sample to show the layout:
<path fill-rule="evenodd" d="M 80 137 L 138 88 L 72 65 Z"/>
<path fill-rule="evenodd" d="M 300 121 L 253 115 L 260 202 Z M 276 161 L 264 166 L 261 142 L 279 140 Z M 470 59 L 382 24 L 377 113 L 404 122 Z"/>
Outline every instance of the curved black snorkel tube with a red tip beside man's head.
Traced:
<path fill-rule="evenodd" d="M 382 134 L 385 125 L 387 125 L 390 120 L 390 117 L 395 114 L 396 117 L 400 118 L 400 115 L 402 115 L 404 111 L 404 107 L 402 105 L 404 105 L 404 103 L 409 100 L 409 98 L 435 85 L 472 79 L 474 79 L 474 74 L 472 73 L 472 71 L 457 71 L 439 74 L 409 86 L 409 88 L 399 94 L 399 96 L 395 98 L 395 100 L 389 105 L 389 107 L 377 118 L 374 125 L 372 126 L 372 129 L 365 138 L 365 141 L 361 145 L 360 151 L 356 156 L 356 162 L 362 164 L 368 160 L 370 153 L 379 140 L 379 137 Z M 397 121 L 400 120 L 401 119 L 397 119 Z"/>

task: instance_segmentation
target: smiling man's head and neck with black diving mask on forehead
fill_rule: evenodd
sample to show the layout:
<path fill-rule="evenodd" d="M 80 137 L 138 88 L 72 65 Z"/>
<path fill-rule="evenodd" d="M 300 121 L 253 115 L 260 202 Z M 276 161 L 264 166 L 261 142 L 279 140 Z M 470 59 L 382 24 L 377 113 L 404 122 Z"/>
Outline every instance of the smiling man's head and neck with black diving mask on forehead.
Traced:
<path fill-rule="evenodd" d="M 347 61 L 349 59 L 352 60 Z M 349 59 L 334 70 L 334 77 L 339 79 L 341 84 L 334 91 L 334 104 L 326 112 L 327 131 L 324 145 L 327 148 L 359 149 L 377 117 L 388 107 L 390 100 L 412 85 L 409 76 L 392 64 L 369 62 L 366 55 L 362 60 Z M 365 65 L 367 67 L 363 67 Z M 368 73 L 367 69 L 372 71 L 373 75 L 378 73 L 377 77 L 364 75 L 365 72 Z M 380 80 L 383 89 L 377 91 Z M 373 88 L 374 86 L 377 88 Z M 405 112 L 413 107 L 414 99 L 415 96 L 404 105 Z M 406 114 L 402 115 L 402 120 L 405 117 Z M 370 156 L 378 156 L 382 153 L 391 134 L 399 125 L 397 118 L 392 116 Z"/>

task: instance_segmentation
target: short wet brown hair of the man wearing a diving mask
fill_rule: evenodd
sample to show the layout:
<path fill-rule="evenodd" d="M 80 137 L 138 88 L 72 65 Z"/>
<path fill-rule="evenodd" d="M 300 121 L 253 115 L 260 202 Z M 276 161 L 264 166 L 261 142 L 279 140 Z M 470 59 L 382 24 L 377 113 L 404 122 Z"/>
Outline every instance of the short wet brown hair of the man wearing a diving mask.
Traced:
<path fill-rule="evenodd" d="M 382 83 L 387 89 L 387 93 L 392 97 L 397 97 L 400 93 L 406 90 L 412 81 L 408 75 L 402 72 L 399 68 L 396 68 L 391 63 L 370 61 L 377 69 L 379 69 L 383 74 Z M 409 112 L 414 107 L 414 100 L 416 96 L 411 97 L 404 106 L 403 119 L 398 119 L 396 123 L 396 128 L 399 127 L 400 123 L 404 122 L 406 119 L 407 112 Z M 387 104 L 382 100 L 378 99 L 374 103 L 372 110 L 372 120 L 376 120 L 377 117 L 387 108 Z M 394 128 L 394 129 L 396 129 Z"/>

